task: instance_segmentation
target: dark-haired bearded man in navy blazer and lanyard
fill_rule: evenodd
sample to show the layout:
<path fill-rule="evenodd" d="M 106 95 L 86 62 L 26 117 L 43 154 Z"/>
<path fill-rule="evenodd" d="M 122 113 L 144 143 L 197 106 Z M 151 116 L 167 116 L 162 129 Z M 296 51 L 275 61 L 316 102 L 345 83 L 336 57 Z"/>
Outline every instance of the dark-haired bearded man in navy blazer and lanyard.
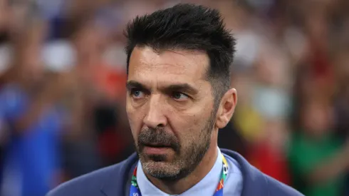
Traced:
<path fill-rule="evenodd" d="M 48 196 L 301 195 L 217 147 L 234 113 L 235 40 L 219 12 L 179 4 L 127 26 L 127 116 L 137 155 Z"/>

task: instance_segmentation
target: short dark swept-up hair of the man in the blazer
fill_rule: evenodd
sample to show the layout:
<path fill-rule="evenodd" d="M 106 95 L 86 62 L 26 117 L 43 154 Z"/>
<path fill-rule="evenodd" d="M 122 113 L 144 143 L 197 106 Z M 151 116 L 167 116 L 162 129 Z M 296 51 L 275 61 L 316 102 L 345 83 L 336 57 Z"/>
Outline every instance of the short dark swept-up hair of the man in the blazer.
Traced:
<path fill-rule="evenodd" d="M 207 80 L 212 83 L 215 102 L 230 88 L 230 67 L 235 38 L 225 29 L 219 11 L 194 4 L 177 4 L 152 14 L 137 16 L 127 24 L 127 73 L 135 46 L 155 51 L 187 49 L 205 51 L 209 56 Z M 217 105 L 216 105 L 217 106 Z"/>

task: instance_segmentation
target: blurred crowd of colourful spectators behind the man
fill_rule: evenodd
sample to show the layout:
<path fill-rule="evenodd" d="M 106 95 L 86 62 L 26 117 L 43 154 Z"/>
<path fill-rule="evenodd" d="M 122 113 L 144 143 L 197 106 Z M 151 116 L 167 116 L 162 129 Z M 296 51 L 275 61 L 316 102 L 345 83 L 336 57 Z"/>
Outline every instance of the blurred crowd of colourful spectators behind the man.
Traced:
<path fill-rule="evenodd" d="M 1 196 L 134 152 L 123 29 L 179 1 L 0 0 Z M 307 196 L 349 195 L 349 1 L 181 1 L 222 11 L 239 93 L 219 147 Z"/>

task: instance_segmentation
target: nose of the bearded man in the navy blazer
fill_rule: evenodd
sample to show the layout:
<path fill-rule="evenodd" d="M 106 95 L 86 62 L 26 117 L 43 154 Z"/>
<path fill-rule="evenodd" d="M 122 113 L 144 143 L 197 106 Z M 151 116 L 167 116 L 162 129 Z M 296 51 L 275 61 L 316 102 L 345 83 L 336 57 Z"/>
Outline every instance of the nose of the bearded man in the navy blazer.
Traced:
<path fill-rule="evenodd" d="M 165 127 L 167 125 L 167 118 L 164 115 L 164 108 L 160 95 L 152 96 L 148 102 L 147 115 L 145 116 L 143 123 L 148 128 Z"/>

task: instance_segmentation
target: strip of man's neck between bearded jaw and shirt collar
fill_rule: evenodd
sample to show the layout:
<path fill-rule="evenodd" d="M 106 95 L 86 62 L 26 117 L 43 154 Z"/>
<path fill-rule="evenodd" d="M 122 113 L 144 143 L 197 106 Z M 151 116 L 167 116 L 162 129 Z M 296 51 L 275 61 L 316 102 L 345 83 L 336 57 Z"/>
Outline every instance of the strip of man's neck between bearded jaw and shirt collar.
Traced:
<path fill-rule="evenodd" d="M 155 187 L 162 190 L 162 192 L 166 192 L 170 195 L 179 195 L 196 185 L 198 182 L 200 182 L 200 180 L 202 180 L 202 178 L 207 175 L 207 173 L 209 173 L 209 171 L 214 166 L 214 163 L 216 163 L 217 155 L 217 141 L 215 141 L 214 143 L 211 143 L 209 150 L 207 150 L 207 153 L 204 155 L 204 158 L 202 158 L 202 161 L 199 163 L 199 165 L 197 165 L 195 170 L 187 177 L 184 177 L 177 181 L 166 182 L 150 175 L 146 176 L 150 180 L 150 182 L 152 182 Z"/>

